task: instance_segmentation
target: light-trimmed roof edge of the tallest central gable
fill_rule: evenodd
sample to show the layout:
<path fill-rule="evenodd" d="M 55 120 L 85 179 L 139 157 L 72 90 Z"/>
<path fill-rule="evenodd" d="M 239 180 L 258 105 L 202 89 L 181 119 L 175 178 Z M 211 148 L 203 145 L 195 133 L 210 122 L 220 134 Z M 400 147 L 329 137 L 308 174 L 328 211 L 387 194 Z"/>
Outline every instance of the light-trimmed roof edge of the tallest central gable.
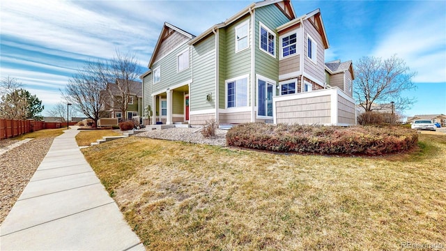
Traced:
<path fill-rule="evenodd" d="M 215 31 L 216 29 L 220 29 L 225 26 L 228 26 L 229 24 L 232 24 L 233 22 L 237 21 L 240 17 L 243 17 L 244 15 L 251 12 L 252 10 L 254 10 L 256 8 L 261 8 L 263 6 L 268 6 L 270 4 L 274 4 L 277 8 L 279 8 L 279 10 L 281 10 L 282 13 L 284 13 L 284 15 L 286 15 L 286 17 L 289 18 L 289 20 L 295 19 L 295 11 L 294 11 L 293 5 L 291 4 L 290 0 L 259 1 L 256 3 L 251 3 L 249 6 L 245 7 L 243 10 L 240 10 L 235 15 L 229 17 L 224 22 L 221 22 L 220 24 L 215 24 L 214 26 L 210 27 L 209 29 L 207 29 L 206 31 L 201 33 L 199 36 L 197 36 L 196 38 L 190 40 L 189 44 L 194 45 L 195 43 L 199 42 L 201 39 L 208 36 L 210 33 L 213 33 L 213 31 Z"/>

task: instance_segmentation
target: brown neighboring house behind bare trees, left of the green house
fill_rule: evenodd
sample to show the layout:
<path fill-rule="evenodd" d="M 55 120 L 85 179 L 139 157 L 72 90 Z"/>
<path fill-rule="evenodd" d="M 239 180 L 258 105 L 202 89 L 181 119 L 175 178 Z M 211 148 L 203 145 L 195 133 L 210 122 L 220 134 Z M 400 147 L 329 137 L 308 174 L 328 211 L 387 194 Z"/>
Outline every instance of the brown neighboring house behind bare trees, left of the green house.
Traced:
<path fill-rule="evenodd" d="M 122 91 L 118 88 L 118 84 L 122 83 L 122 79 L 116 79 L 115 83 L 107 84 L 107 90 L 102 91 L 102 98 L 104 102 L 105 112 L 109 115 L 109 118 L 116 119 L 132 119 L 134 116 L 141 116 L 143 113 L 142 103 L 142 83 L 136 81 L 130 81 L 128 91 L 128 107 L 127 110 L 122 111 L 120 102 L 122 102 Z M 109 93 L 112 93 L 110 97 Z"/>

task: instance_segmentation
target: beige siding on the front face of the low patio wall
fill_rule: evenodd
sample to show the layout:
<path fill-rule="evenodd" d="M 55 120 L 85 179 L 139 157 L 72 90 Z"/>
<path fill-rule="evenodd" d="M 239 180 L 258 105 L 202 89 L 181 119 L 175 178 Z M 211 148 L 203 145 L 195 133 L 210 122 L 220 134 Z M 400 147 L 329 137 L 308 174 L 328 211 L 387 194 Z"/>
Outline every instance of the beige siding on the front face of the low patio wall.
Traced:
<path fill-rule="evenodd" d="M 329 95 L 278 101 L 277 123 L 328 124 L 331 123 L 330 106 Z"/>

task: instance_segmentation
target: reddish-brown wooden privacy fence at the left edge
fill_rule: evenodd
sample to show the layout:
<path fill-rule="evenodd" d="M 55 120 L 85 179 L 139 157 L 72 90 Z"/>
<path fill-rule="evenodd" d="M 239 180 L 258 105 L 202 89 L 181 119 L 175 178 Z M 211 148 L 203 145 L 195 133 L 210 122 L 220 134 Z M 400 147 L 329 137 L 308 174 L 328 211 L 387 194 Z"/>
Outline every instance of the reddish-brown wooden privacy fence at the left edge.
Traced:
<path fill-rule="evenodd" d="M 61 123 L 34 120 L 0 119 L 0 139 L 17 137 L 27 132 L 52 128 L 61 128 Z"/>

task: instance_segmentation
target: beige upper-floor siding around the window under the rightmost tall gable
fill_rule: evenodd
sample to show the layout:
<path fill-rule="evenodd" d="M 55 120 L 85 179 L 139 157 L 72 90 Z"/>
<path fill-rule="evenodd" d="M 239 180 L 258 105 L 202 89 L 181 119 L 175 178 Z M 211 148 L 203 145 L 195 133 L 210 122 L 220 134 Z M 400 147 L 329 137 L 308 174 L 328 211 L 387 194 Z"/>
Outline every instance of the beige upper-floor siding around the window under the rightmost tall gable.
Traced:
<path fill-rule="evenodd" d="M 307 56 L 307 47 L 308 47 L 308 34 L 313 38 L 313 40 L 317 43 L 317 51 L 316 51 L 316 63 L 314 63 Z M 324 47 L 322 43 L 322 37 L 316 31 L 313 24 L 309 20 L 304 21 L 304 72 L 308 75 L 317 79 L 318 82 L 325 82 L 325 70 L 324 70 Z"/>

